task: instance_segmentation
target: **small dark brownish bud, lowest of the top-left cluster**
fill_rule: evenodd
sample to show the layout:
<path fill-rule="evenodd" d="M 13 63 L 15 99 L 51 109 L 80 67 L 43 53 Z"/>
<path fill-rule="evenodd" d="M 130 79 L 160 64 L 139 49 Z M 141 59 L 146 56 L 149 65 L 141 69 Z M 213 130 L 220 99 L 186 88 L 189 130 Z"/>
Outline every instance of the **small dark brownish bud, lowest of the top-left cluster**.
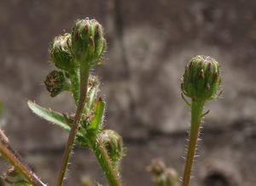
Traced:
<path fill-rule="evenodd" d="M 63 91 L 70 91 L 71 85 L 62 71 L 53 70 L 44 81 L 46 89 L 51 97 L 55 97 Z"/>

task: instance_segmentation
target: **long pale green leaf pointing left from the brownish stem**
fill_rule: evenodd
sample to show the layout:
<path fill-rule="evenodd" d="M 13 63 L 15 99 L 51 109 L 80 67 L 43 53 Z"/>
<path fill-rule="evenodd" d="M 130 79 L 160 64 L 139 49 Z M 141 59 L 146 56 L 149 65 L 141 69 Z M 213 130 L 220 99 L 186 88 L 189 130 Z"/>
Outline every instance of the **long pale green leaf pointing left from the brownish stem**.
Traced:
<path fill-rule="evenodd" d="M 61 113 L 55 112 L 53 110 L 45 109 L 44 107 L 39 106 L 31 100 L 28 100 L 27 104 L 32 112 L 39 117 L 42 117 L 44 120 L 52 122 L 64 128 L 65 130 L 70 131 L 70 123 L 67 122 L 67 116 L 64 116 Z"/>

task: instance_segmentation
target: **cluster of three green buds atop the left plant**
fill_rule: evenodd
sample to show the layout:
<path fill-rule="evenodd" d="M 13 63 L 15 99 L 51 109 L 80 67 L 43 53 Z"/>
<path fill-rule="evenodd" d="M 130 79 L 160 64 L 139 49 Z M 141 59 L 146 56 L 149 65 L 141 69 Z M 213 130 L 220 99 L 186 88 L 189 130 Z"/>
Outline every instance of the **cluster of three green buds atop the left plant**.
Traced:
<path fill-rule="evenodd" d="M 65 33 L 55 37 L 49 48 L 50 59 L 61 71 L 55 70 L 46 77 L 44 84 L 50 95 L 54 97 L 62 91 L 71 90 L 77 102 L 79 71 L 81 68 L 89 71 L 102 60 L 106 43 L 102 25 L 88 18 L 77 20 L 71 34 Z"/>

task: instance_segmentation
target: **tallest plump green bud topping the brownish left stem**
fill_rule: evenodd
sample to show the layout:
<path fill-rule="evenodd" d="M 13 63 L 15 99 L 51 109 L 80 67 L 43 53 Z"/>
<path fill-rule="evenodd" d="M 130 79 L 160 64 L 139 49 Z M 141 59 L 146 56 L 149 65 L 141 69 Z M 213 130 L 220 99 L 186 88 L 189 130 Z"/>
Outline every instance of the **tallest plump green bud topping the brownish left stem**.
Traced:
<path fill-rule="evenodd" d="M 96 20 L 77 20 L 72 31 L 72 54 L 80 65 L 96 65 L 106 49 L 103 28 Z"/>

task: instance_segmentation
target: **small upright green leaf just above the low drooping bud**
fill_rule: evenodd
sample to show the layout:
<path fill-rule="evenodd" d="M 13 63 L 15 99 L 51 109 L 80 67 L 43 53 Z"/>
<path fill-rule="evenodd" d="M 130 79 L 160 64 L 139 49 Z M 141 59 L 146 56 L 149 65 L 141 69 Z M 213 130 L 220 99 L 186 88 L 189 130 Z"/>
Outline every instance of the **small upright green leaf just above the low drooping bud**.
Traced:
<path fill-rule="evenodd" d="M 105 103 L 99 99 L 95 104 L 95 116 L 90 121 L 89 129 L 97 130 L 100 128 L 104 114 Z"/>

